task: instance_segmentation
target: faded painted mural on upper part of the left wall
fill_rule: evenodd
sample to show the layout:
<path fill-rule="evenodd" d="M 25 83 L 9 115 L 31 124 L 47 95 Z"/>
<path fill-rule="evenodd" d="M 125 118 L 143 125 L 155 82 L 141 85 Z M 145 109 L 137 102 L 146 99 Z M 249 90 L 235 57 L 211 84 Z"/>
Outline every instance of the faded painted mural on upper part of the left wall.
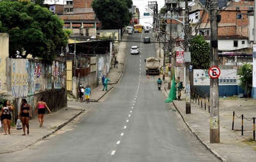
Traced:
<path fill-rule="evenodd" d="M 65 87 L 65 78 L 63 62 L 47 65 L 39 60 L 12 59 L 12 95 L 16 98 L 61 89 Z"/>

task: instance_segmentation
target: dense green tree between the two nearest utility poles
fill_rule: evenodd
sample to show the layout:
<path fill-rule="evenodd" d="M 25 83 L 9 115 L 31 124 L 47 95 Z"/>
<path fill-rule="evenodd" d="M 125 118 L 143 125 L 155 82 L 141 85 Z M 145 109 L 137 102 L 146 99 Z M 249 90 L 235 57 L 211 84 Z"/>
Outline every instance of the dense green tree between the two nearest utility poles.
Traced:
<path fill-rule="evenodd" d="M 193 69 L 210 68 L 210 44 L 204 40 L 203 36 L 197 35 L 190 42 L 191 64 Z"/>

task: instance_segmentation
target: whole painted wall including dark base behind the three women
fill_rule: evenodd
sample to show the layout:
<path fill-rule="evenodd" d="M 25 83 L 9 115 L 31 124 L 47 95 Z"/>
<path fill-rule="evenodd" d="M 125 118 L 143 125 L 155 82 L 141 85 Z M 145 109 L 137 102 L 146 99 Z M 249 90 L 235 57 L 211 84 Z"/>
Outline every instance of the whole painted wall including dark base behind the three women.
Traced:
<path fill-rule="evenodd" d="M 7 96 L 15 105 L 16 118 L 22 98 L 27 99 L 33 111 L 42 97 L 52 112 L 67 107 L 64 62 L 54 61 L 47 65 L 38 59 L 7 58 L 6 64 Z"/>

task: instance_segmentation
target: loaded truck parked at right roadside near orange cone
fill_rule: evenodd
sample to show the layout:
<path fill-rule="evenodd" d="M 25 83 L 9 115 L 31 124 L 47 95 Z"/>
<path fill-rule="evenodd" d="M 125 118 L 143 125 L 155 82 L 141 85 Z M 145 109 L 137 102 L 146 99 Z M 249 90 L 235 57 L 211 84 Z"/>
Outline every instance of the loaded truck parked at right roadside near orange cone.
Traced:
<path fill-rule="evenodd" d="M 159 62 L 160 60 L 155 57 L 148 57 L 146 62 L 146 75 L 159 75 Z"/>

